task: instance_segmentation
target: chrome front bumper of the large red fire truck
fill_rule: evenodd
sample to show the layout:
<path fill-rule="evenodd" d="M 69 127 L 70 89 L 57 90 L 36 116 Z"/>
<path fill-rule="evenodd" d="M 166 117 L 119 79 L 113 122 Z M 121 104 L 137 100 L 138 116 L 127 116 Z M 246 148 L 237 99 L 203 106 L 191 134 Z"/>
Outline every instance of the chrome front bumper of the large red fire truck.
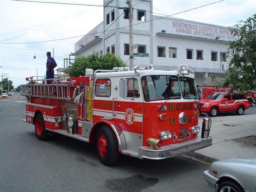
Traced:
<path fill-rule="evenodd" d="M 138 158 L 160 160 L 171 158 L 174 156 L 194 152 L 195 150 L 202 149 L 212 145 L 212 138 L 201 138 L 198 136 L 193 140 L 180 142 L 176 144 L 164 145 L 161 148 L 150 149 L 149 147 L 142 146 L 138 148 Z"/>

